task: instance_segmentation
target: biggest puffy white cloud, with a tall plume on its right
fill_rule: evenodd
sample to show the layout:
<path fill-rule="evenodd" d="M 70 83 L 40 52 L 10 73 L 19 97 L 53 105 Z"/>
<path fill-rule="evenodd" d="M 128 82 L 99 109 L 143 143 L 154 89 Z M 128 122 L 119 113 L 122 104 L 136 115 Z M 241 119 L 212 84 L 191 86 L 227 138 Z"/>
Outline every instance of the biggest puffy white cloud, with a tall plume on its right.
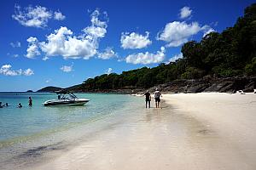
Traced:
<path fill-rule="evenodd" d="M 90 59 L 94 56 L 99 40 L 107 33 L 107 21 L 99 20 L 99 15 L 98 10 L 90 15 L 91 26 L 85 27 L 79 37 L 74 36 L 73 31 L 66 26 L 61 26 L 47 36 L 45 42 L 38 42 L 37 47 L 45 54 L 44 59 L 57 55 L 63 56 L 64 59 Z"/>

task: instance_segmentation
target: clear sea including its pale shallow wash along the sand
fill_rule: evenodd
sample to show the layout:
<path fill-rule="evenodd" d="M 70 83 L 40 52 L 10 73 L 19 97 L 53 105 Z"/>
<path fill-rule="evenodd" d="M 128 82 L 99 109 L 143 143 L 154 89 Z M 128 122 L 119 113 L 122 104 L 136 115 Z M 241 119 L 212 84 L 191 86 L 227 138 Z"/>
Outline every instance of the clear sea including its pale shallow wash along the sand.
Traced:
<path fill-rule="evenodd" d="M 42 146 L 72 143 L 95 133 L 109 117 L 125 116 L 144 107 L 143 98 L 128 94 L 76 94 L 90 99 L 84 106 L 43 106 L 50 93 L 0 93 L 0 163 Z M 32 106 L 28 98 L 32 97 Z M 18 108 L 18 104 L 23 105 Z M 99 128 L 101 127 L 101 128 Z"/>

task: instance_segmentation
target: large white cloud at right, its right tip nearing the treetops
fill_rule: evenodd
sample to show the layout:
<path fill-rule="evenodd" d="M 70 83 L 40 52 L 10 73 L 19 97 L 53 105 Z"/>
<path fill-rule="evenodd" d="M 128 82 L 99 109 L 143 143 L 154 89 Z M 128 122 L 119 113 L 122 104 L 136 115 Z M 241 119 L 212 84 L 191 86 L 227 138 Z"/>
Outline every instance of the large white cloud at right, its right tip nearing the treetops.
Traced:
<path fill-rule="evenodd" d="M 187 24 L 186 22 L 173 21 L 166 24 L 164 31 L 160 31 L 157 40 L 167 42 L 166 47 L 178 47 L 189 41 L 189 37 L 204 30 L 197 22 Z"/>

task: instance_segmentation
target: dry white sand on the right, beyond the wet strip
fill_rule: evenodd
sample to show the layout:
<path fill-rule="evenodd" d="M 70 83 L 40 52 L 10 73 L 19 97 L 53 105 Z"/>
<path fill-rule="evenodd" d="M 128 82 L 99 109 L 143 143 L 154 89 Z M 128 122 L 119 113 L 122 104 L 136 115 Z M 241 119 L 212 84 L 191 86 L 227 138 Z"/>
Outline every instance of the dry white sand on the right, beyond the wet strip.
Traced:
<path fill-rule="evenodd" d="M 203 122 L 209 147 L 203 160 L 207 169 L 256 168 L 255 94 L 168 94 L 166 102 L 177 112 Z M 207 136 L 209 137 L 207 139 Z M 200 152 L 198 154 L 201 154 Z"/>

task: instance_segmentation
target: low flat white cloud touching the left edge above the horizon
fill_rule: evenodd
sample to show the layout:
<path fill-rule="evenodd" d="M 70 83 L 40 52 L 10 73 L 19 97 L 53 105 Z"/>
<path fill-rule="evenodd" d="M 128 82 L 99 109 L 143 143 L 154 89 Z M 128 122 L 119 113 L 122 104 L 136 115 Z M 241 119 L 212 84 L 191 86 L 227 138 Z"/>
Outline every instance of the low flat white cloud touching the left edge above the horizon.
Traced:
<path fill-rule="evenodd" d="M 34 72 L 30 68 L 25 71 L 22 71 L 21 69 L 14 71 L 12 70 L 12 65 L 2 65 L 0 68 L 0 74 L 3 74 L 4 76 L 32 76 Z"/>

